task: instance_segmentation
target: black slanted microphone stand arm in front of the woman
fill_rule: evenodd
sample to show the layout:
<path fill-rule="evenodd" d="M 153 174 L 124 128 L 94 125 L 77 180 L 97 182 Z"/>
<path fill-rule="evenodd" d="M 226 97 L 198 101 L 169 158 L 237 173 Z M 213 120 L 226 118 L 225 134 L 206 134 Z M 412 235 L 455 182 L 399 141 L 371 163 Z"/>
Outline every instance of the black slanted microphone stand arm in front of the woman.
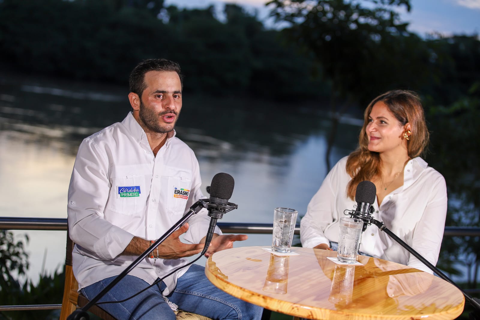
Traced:
<path fill-rule="evenodd" d="M 361 203 L 363 204 L 363 203 Z M 456 283 L 453 282 L 450 278 L 448 278 L 442 271 L 440 271 L 437 267 L 432 265 L 427 259 L 423 258 L 420 256 L 420 254 L 415 251 L 411 246 L 408 246 L 402 239 L 400 239 L 396 234 L 394 234 L 392 231 L 390 231 L 384 224 L 384 222 L 380 222 L 378 220 L 375 220 L 372 216 L 371 213 L 373 212 L 373 207 L 370 209 L 370 213 L 368 212 L 361 212 L 361 211 L 355 211 L 355 210 L 345 210 L 349 213 L 352 217 L 358 218 L 363 220 L 368 225 L 371 225 L 372 223 L 376 225 L 380 231 L 383 231 L 384 233 L 388 234 L 392 239 L 394 239 L 398 244 L 403 246 L 405 249 L 407 249 L 408 252 L 410 252 L 415 258 L 419 259 L 424 265 L 430 268 L 433 272 L 435 272 L 440 278 L 445 280 L 448 283 L 453 284 L 458 290 L 462 292 L 462 294 L 465 296 L 465 300 L 467 300 L 474 309 L 476 309 L 476 312 L 480 312 L 480 303 L 478 298 L 473 298 L 472 296 L 468 295 L 466 292 L 463 291 L 462 288 L 460 288 Z M 344 211 L 344 213 L 345 213 Z M 347 213 L 345 213 L 347 214 Z"/>

